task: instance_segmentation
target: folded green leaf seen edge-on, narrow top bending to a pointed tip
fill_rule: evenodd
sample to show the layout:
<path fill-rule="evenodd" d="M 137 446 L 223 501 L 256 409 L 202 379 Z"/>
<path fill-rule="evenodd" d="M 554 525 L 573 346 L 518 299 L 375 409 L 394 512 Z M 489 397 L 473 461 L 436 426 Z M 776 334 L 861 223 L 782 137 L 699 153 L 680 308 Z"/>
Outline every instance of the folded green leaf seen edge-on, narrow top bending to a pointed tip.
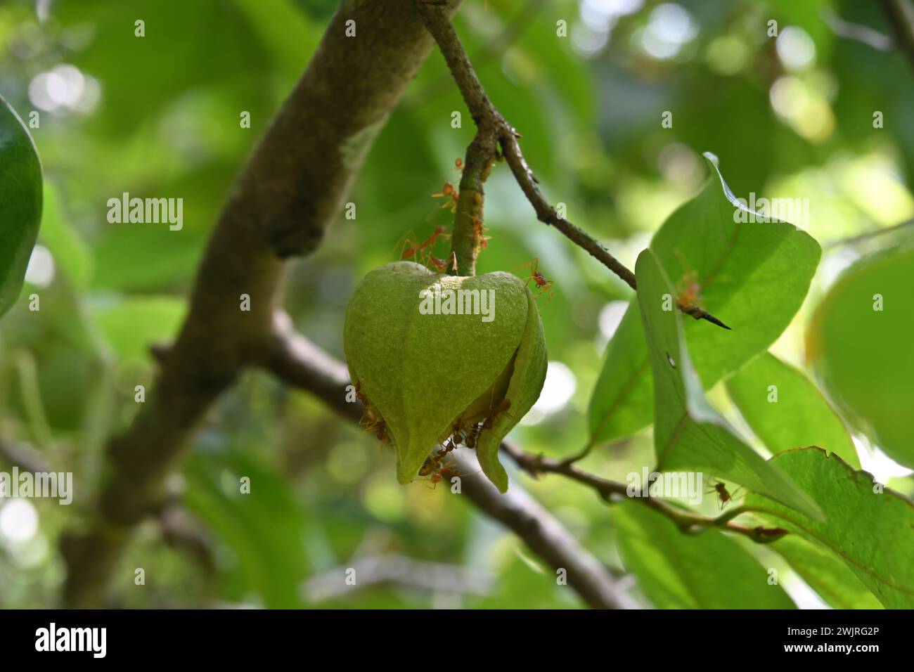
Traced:
<path fill-rule="evenodd" d="M 657 471 L 707 471 L 809 516 L 820 515 L 813 501 L 780 469 L 742 443 L 705 399 L 685 348 L 682 317 L 669 304 L 673 289 L 654 251 L 638 256 L 635 277 L 654 371 Z"/>

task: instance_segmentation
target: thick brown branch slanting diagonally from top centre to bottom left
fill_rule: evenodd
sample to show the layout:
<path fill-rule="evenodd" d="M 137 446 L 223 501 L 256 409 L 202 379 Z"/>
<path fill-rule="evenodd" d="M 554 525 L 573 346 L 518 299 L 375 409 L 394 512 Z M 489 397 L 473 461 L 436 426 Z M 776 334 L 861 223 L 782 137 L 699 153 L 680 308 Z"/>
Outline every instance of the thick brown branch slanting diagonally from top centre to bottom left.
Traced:
<path fill-rule="evenodd" d="M 447 5 L 445 11 L 455 8 Z M 345 22 L 356 22 L 346 37 Z M 108 447 L 110 477 L 85 532 L 61 539 L 65 603 L 99 606 L 133 526 L 163 506 L 204 412 L 271 337 L 283 259 L 313 251 L 388 113 L 432 47 L 409 3 L 345 0 L 260 141 L 218 221 L 157 385 Z M 242 294 L 250 311 L 239 310 Z"/>

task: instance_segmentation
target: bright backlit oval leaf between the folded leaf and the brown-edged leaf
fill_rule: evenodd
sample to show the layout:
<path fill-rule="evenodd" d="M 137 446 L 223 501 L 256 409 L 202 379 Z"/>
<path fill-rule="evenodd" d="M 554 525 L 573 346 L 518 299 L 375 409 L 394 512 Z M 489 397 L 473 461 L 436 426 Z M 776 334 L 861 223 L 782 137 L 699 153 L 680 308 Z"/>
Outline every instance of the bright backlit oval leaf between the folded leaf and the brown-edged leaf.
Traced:
<path fill-rule="evenodd" d="M 772 385 L 776 390 L 770 390 Z M 817 445 L 860 466 L 844 423 L 822 393 L 801 371 L 771 353 L 761 354 L 730 377 L 727 391 L 771 453 Z"/>

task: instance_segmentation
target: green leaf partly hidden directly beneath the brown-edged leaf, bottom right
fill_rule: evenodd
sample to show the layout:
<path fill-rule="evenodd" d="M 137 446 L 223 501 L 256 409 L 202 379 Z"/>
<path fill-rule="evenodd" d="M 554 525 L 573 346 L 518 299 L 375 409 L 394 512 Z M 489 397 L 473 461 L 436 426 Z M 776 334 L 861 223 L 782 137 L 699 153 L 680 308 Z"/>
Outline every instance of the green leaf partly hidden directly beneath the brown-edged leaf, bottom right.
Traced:
<path fill-rule="evenodd" d="M 788 534 L 771 544 L 793 571 L 835 609 L 882 609 L 876 595 L 845 565 L 844 560 L 824 546 Z"/>

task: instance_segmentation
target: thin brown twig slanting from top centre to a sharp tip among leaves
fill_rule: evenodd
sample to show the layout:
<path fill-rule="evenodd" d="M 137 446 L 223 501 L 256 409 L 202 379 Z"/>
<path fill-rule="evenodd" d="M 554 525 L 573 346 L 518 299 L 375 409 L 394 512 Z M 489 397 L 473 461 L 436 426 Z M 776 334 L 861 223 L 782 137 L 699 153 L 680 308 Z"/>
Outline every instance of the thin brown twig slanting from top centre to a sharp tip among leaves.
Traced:
<path fill-rule="evenodd" d="M 473 65 L 463 49 L 460 38 L 454 32 L 450 17 L 441 11 L 440 3 L 435 2 L 435 0 L 416 0 L 416 2 L 422 20 L 435 38 L 435 42 L 438 43 L 441 55 L 447 61 L 451 75 L 461 91 L 463 101 L 473 115 L 473 121 L 479 129 L 477 141 L 474 142 L 478 142 L 480 136 L 489 141 L 496 140 L 502 148 L 502 153 L 507 164 L 511 167 L 511 172 L 514 174 L 518 186 L 524 192 L 526 199 L 530 201 L 534 211 L 536 211 L 537 219 L 558 229 L 562 235 L 579 246 L 579 248 L 589 252 L 590 256 L 619 276 L 622 282 L 628 284 L 632 289 L 637 289 L 634 273 L 622 261 L 613 257 L 599 240 L 590 237 L 583 229 L 579 229 L 567 219 L 558 217 L 555 208 L 549 205 L 546 197 L 537 187 L 537 178 L 526 164 L 520 144 L 517 143 L 517 138 L 520 137 L 520 134 L 515 131 L 510 123 L 505 121 L 505 117 L 501 115 L 501 112 L 498 112 L 486 95 L 483 85 L 476 76 Z M 467 156 L 468 158 L 470 157 L 469 150 Z M 465 224 L 455 219 L 455 235 L 460 226 L 465 226 Z M 459 257 L 458 263 L 460 263 Z M 686 315 L 692 315 L 696 319 L 707 320 L 725 329 L 730 328 L 699 306 L 689 304 L 680 306 L 680 309 Z"/>

